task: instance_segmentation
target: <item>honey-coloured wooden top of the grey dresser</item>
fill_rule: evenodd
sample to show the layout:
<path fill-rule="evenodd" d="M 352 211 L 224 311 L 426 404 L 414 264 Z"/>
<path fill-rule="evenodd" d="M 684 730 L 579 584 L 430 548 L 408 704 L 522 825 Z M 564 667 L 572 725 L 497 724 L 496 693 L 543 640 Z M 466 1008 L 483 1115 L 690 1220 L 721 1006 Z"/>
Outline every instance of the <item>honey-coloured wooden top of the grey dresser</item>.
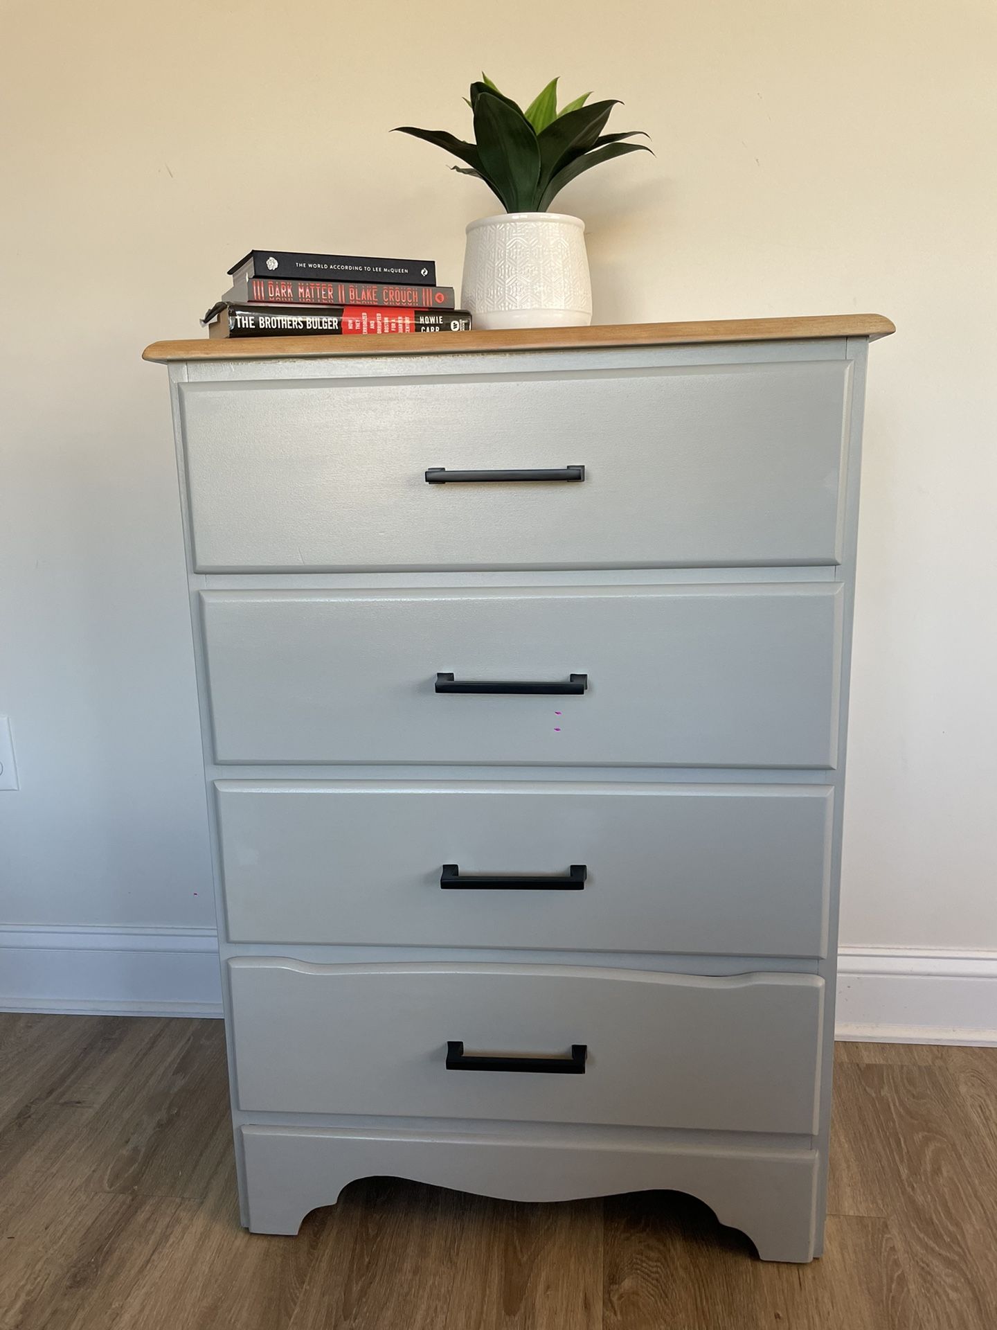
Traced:
<path fill-rule="evenodd" d="M 815 314 L 788 319 L 709 319 L 698 323 L 597 323 L 581 329 L 400 332 L 364 336 L 197 338 L 153 342 L 144 360 L 298 360 L 328 355 L 439 355 L 467 351 L 548 351 L 694 342 L 784 342 L 820 336 L 889 336 L 881 314 Z"/>

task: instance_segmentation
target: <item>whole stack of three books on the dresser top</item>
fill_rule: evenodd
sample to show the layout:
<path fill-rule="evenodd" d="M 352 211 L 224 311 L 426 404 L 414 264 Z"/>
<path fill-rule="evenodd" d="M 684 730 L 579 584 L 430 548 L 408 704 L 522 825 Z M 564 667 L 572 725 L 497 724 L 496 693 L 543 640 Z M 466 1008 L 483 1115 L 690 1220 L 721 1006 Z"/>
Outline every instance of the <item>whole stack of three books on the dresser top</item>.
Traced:
<path fill-rule="evenodd" d="M 453 287 L 416 258 L 358 258 L 251 250 L 229 269 L 231 286 L 201 319 L 209 336 L 348 332 L 464 332 Z"/>

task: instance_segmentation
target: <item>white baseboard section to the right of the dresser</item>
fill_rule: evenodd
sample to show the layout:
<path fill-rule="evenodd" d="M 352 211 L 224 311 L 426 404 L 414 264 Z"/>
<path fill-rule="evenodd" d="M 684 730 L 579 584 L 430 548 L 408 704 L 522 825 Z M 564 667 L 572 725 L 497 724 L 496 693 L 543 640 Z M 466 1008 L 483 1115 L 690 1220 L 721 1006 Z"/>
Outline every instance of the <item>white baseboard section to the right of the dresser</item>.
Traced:
<path fill-rule="evenodd" d="M 997 951 L 841 947 L 835 1037 L 997 1044 Z"/>

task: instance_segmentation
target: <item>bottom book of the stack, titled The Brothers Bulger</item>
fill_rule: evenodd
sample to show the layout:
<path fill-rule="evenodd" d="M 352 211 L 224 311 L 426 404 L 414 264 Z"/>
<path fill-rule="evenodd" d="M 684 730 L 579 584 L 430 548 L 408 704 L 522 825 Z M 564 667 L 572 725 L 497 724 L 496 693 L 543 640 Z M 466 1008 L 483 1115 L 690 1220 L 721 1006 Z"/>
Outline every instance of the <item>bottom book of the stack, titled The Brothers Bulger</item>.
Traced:
<path fill-rule="evenodd" d="M 465 332 L 467 310 L 384 310 L 371 305 L 269 307 L 219 301 L 205 314 L 209 336 L 306 336 L 370 332 Z"/>

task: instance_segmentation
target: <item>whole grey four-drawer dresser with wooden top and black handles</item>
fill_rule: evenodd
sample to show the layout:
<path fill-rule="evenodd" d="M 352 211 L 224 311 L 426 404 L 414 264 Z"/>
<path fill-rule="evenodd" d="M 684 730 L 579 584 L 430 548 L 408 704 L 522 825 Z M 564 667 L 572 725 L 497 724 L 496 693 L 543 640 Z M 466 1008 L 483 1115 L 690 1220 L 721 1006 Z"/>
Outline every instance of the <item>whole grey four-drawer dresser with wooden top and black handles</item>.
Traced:
<path fill-rule="evenodd" d="M 820 1253 L 877 315 L 156 343 L 242 1217 L 691 1193 Z"/>

